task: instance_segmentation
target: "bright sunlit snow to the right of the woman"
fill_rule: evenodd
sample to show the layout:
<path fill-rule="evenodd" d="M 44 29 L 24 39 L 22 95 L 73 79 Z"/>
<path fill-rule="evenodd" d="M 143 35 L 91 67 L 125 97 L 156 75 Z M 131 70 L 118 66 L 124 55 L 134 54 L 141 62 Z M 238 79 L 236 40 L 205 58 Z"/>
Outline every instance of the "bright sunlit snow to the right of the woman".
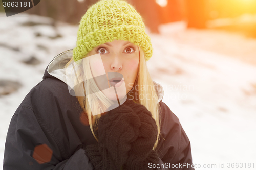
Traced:
<path fill-rule="evenodd" d="M 177 40 L 175 35 L 186 32 L 181 26 L 184 24 L 165 25 L 162 29 L 165 36 L 151 35 L 154 54 L 148 61 L 148 68 L 152 78 L 164 87 L 163 101 L 178 116 L 190 139 L 193 163 L 216 164 L 217 167 L 224 162 L 255 163 L 255 65 L 209 51 L 207 44 L 201 47 L 192 45 L 190 37 L 184 35 L 181 35 L 184 41 Z M 168 27 L 173 32 L 166 35 Z M 180 30 L 175 31 L 177 27 Z M 201 38 L 206 32 L 218 34 L 215 31 L 189 31 L 194 32 L 194 37 Z M 220 34 L 223 35 L 223 32 Z M 211 35 L 205 36 L 199 43 L 221 41 L 209 37 Z M 237 35 L 226 33 L 225 37 L 234 39 Z M 241 49 L 246 38 L 239 38 L 243 39 L 239 46 L 238 42 L 230 41 L 228 47 Z M 256 47 L 256 40 L 247 41 Z M 255 47 L 248 50 L 255 53 Z"/>

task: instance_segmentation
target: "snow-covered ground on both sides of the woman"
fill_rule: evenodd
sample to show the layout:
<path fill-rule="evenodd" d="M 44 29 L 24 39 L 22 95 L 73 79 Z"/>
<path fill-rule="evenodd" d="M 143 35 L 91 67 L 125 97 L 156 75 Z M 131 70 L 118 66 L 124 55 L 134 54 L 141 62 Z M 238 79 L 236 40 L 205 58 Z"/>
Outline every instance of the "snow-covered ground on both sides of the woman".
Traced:
<path fill-rule="evenodd" d="M 28 26 L 29 21 L 38 24 Z M 75 46 L 78 27 L 64 23 L 53 27 L 48 18 L 26 14 L 0 14 L 0 23 L 0 79 L 23 85 L 0 96 L 3 160 L 12 115 L 42 80 L 48 63 Z M 150 34 L 154 54 L 148 68 L 153 80 L 164 87 L 163 101 L 190 139 L 193 163 L 201 168 L 217 165 L 202 169 L 231 169 L 227 163 L 254 163 L 256 168 L 256 64 L 243 59 L 256 57 L 256 40 L 213 30 L 185 30 L 182 22 L 162 26 L 161 33 Z M 22 62 L 32 56 L 41 63 Z M 225 168 L 219 168 L 220 163 Z"/>

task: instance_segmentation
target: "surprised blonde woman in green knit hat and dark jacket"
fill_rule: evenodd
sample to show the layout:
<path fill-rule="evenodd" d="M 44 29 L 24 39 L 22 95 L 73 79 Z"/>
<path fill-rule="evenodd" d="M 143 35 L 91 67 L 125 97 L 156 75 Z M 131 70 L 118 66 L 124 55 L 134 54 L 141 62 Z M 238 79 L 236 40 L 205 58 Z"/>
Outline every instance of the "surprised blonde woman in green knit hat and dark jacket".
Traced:
<path fill-rule="evenodd" d="M 148 73 L 153 48 L 134 7 L 101 0 L 77 35 L 14 113 L 4 170 L 194 169 L 189 139 Z"/>

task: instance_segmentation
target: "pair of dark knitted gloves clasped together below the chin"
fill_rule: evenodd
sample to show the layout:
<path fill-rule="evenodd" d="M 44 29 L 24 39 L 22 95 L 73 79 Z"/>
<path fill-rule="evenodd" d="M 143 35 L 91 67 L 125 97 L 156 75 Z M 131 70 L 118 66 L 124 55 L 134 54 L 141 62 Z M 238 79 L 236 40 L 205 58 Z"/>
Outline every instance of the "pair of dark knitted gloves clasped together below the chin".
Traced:
<path fill-rule="evenodd" d="M 88 145 L 86 154 L 97 169 L 149 169 L 157 164 L 153 150 L 157 125 L 143 105 L 126 100 L 99 119 L 98 145 Z"/>

